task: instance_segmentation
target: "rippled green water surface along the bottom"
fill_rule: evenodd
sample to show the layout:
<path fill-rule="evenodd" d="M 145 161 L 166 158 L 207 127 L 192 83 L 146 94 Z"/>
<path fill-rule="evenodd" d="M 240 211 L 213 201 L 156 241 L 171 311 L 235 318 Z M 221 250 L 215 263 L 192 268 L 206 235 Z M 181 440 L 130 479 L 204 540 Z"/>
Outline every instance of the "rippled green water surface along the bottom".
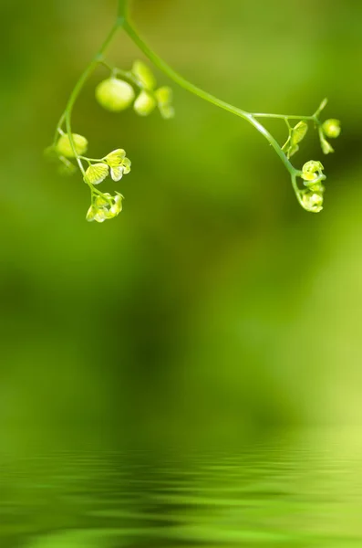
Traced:
<path fill-rule="evenodd" d="M 362 546 L 358 431 L 5 458 L 1 548 Z"/>

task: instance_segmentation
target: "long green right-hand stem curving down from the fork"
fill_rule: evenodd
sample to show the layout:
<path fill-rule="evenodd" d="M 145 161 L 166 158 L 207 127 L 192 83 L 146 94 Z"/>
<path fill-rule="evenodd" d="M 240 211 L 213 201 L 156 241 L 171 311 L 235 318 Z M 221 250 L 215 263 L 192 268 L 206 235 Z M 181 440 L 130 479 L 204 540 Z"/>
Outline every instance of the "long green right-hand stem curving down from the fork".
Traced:
<path fill-rule="evenodd" d="M 176 84 L 181 86 L 184 90 L 190 91 L 197 97 L 200 97 L 202 100 L 206 100 L 216 107 L 219 107 L 220 109 L 223 109 L 224 111 L 231 112 L 232 114 L 239 116 L 240 118 L 243 118 L 243 120 L 248 121 L 253 125 L 253 127 L 260 132 L 262 135 L 264 135 L 265 139 L 272 145 L 274 148 L 274 151 L 278 154 L 282 162 L 284 163 L 284 166 L 289 171 L 290 174 L 296 174 L 298 173 L 297 170 L 295 170 L 295 167 L 292 165 L 292 163 L 289 162 L 287 157 L 285 156 L 284 152 L 279 146 L 279 143 L 274 139 L 274 137 L 269 133 L 264 126 L 255 119 L 254 115 L 250 112 L 243 111 L 242 109 L 239 109 L 237 107 L 234 107 L 233 105 L 220 100 L 210 93 L 207 93 L 204 90 L 201 90 L 197 86 L 194 86 L 189 82 L 187 79 L 184 79 L 178 72 L 173 70 L 173 68 L 170 67 L 163 59 L 161 59 L 140 37 L 139 33 L 135 30 L 135 28 L 129 23 L 127 20 L 124 24 L 124 30 L 127 32 L 129 37 L 133 40 L 133 42 L 140 47 L 140 50 L 145 54 L 147 58 L 150 59 L 150 61 L 156 65 L 156 67 L 160 68 L 162 72 L 164 72 L 170 79 L 172 79 Z"/>

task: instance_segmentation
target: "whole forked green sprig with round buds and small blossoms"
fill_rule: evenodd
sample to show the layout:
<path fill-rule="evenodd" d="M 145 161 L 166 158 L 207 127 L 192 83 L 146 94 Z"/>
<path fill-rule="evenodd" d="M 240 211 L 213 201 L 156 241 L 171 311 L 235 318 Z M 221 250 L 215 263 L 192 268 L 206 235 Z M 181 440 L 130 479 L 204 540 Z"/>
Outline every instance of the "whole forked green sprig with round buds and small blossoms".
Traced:
<path fill-rule="evenodd" d="M 129 0 L 119 0 L 116 22 L 110 29 L 108 37 L 98 49 L 96 56 L 78 79 L 67 101 L 66 109 L 58 121 L 53 144 L 47 149 L 47 153 L 57 160 L 63 173 L 72 174 L 77 171 L 78 166 L 84 182 L 88 184 L 90 190 L 91 205 L 87 214 L 88 221 L 102 223 L 119 215 L 122 210 L 123 196 L 118 192 L 115 195 L 103 193 L 98 189 L 98 184 L 103 183 L 109 175 L 114 181 L 120 181 L 123 175 L 129 174 L 131 167 L 126 152 L 122 148 L 116 149 L 100 159 L 88 158 L 85 155 L 88 150 L 88 140 L 82 135 L 72 132 L 72 112 L 78 96 L 91 74 L 99 66 L 109 69 L 109 78 L 102 80 L 96 89 L 96 99 L 106 110 L 119 112 L 133 106 L 134 111 L 140 116 L 148 116 L 156 109 L 160 111 L 165 120 L 170 120 L 174 116 L 171 88 L 168 86 L 159 88 L 153 72 L 142 61 L 135 61 L 130 70 L 113 67 L 109 64 L 106 52 L 120 30 L 124 30 L 150 62 L 181 88 L 251 123 L 269 142 L 274 152 L 284 163 L 284 167 L 290 174 L 299 204 L 306 211 L 312 213 L 318 213 L 323 209 L 325 192 L 323 183 L 326 180 L 326 175 L 323 173 L 322 163 L 312 160 L 305 163 L 302 169 L 297 169 L 291 163 L 291 158 L 298 152 L 300 143 L 305 139 L 308 123 L 313 123 L 318 132 L 322 152 L 325 154 L 334 152 L 327 139 L 338 137 L 341 128 L 340 122 L 335 119 L 320 120 L 320 115 L 326 108 L 327 100 L 322 101 L 314 114 L 301 116 L 252 113 L 220 100 L 184 79 L 161 59 L 146 44 L 131 24 Z M 274 139 L 274 136 L 259 121 L 263 118 L 285 122 L 288 135 L 283 146 Z M 297 121 L 295 125 L 293 125 L 294 121 Z M 298 185 L 298 179 L 303 182 L 302 188 Z"/>

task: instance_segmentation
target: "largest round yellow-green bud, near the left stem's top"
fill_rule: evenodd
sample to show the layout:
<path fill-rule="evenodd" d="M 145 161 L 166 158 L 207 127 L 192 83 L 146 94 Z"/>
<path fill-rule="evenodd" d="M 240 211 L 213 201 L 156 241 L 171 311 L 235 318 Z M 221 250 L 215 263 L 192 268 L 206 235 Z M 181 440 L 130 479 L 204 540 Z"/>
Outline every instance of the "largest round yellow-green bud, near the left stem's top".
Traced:
<path fill-rule="evenodd" d="M 98 84 L 96 98 L 107 111 L 119 112 L 129 108 L 135 92 L 128 82 L 112 77 Z"/>

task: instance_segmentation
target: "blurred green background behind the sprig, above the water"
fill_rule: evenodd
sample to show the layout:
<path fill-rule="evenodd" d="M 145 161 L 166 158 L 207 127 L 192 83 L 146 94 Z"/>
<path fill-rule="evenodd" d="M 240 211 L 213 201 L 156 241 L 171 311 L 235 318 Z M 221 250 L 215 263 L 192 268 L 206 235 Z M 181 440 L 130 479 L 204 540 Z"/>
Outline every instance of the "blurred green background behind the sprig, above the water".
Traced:
<path fill-rule="evenodd" d="M 1 0 L 2 445 L 229 443 L 280 425 L 362 419 L 362 5 L 135 0 L 186 78 L 247 111 L 327 96 L 336 154 L 320 215 L 246 122 L 174 87 L 177 117 L 78 100 L 90 155 L 123 147 L 124 212 L 88 224 L 88 189 L 43 158 L 116 0 Z M 126 36 L 109 59 L 142 58 Z M 159 81 L 168 84 L 161 74 Z M 281 141 L 283 122 L 268 125 Z M 96 156 L 96 157 L 97 157 Z"/>

